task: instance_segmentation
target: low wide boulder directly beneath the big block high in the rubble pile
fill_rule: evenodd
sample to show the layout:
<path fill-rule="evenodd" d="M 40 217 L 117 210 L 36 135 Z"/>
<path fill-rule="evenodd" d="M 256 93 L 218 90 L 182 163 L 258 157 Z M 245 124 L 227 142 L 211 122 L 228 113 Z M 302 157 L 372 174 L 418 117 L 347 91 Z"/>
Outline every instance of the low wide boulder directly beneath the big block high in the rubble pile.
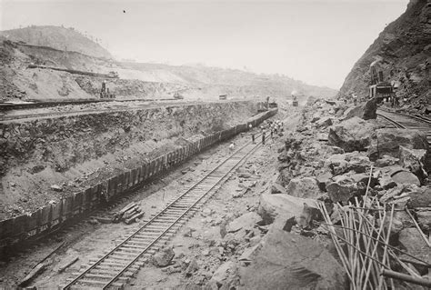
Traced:
<path fill-rule="evenodd" d="M 334 175 L 342 175 L 349 171 L 360 174 L 367 171 L 371 162 L 365 154 L 350 152 L 331 155 L 327 158 L 325 165 L 331 169 Z"/>

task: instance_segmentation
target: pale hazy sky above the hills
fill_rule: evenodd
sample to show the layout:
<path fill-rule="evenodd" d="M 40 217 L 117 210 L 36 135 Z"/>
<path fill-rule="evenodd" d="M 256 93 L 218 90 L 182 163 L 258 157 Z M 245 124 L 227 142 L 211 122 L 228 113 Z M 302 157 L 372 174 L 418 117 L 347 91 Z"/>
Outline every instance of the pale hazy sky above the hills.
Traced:
<path fill-rule="evenodd" d="M 356 60 L 407 3 L 0 0 L 0 30 L 73 26 L 102 38 L 121 58 L 246 67 L 338 89 Z"/>

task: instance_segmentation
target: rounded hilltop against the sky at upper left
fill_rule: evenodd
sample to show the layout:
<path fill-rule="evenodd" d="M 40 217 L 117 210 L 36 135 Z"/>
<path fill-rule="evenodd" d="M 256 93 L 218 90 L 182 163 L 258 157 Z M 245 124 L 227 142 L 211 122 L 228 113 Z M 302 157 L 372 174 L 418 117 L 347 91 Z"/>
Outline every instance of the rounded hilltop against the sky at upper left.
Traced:
<path fill-rule="evenodd" d="M 74 51 L 95 57 L 112 58 L 101 45 L 75 31 L 74 28 L 60 26 L 29 26 L 19 29 L 0 31 L 0 38 L 28 45 L 48 46 L 58 50 Z"/>

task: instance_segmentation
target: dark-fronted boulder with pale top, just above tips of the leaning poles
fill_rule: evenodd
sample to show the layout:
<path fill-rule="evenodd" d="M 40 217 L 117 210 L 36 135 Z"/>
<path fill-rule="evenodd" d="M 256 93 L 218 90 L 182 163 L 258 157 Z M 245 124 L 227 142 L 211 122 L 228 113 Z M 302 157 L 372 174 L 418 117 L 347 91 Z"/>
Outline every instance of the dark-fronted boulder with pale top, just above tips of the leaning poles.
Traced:
<path fill-rule="evenodd" d="M 366 185 L 356 183 L 346 175 L 335 176 L 333 180 L 334 182 L 326 185 L 326 192 L 334 203 L 346 203 L 353 196 L 364 195 L 366 192 Z"/>

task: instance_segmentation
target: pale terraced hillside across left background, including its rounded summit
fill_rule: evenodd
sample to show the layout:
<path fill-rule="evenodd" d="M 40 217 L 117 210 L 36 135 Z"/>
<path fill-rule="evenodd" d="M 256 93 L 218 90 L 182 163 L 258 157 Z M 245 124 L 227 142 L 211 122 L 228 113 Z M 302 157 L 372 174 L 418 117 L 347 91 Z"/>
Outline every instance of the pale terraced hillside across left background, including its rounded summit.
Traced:
<path fill-rule="evenodd" d="M 95 57 L 101 56 L 98 49 L 101 46 L 90 39 L 78 41 L 83 35 L 55 26 L 48 26 L 49 33 L 44 35 L 45 27 L 14 30 L 15 34 L 11 34 L 11 31 L 0 32 L 0 100 L 95 98 L 99 97 L 104 79 L 110 92 L 117 98 L 171 98 L 176 92 L 185 99 L 214 100 L 218 95 L 225 94 L 229 95 L 229 99 L 264 98 L 267 95 L 290 96 L 293 90 L 302 92 L 305 98 L 309 95 L 336 95 L 336 90 L 331 88 L 306 85 L 287 76 L 257 75 L 201 65 L 115 62 L 106 58 L 108 55 Z M 58 29 L 53 33 L 55 28 Z M 30 31 L 37 32 L 35 35 L 42 33 L 41 41 L 33 41 L 35 35 L 23 36 L 27 35 L 25 32 L 31 34 Z M 71 33 L 77 34 L 79 37 L 67 39 L 77 39 L 72 42 L 85 46 L 85 49 L 74 50 L 72 45 L 68 45 L 65 51 L 60 45 L 62 38 L 52 36 L 63 33 L 66 38 Z M 88 42 L 91 45 L 85 45 Z M 90 75 L 73 71 L 88 72 Z M 103 75 L 91 75 L 113 71 L 118 74 L 118 78 L 106 79 Z"/>

